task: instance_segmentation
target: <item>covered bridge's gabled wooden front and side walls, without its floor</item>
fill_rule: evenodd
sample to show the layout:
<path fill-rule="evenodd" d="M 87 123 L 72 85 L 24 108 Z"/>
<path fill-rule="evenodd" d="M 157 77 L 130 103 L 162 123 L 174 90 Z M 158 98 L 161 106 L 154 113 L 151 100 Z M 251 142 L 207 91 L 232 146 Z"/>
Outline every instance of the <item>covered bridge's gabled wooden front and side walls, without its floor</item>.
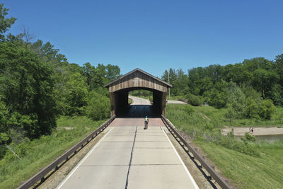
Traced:
<path fill-rule="evenodd" d="M 172 86 L 146 71 L 134 69 L 104 87 L 108 87 L 110 93 L 111 115 L 127 111 L 129 91 L 137 89 L 152 91 L 154 113 L 166 115 L 166 95 L 168 88 Z"/>

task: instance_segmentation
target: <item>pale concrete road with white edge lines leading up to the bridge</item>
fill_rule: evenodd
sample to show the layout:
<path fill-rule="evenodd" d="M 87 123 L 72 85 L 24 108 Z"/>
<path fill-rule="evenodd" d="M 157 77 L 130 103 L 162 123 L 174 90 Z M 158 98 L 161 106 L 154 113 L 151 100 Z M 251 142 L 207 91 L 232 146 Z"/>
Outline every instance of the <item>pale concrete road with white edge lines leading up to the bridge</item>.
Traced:
<path fill-rule="evenodd" d="M 159 119 L 117 118 L 58 188 L 198 188 Z"/>

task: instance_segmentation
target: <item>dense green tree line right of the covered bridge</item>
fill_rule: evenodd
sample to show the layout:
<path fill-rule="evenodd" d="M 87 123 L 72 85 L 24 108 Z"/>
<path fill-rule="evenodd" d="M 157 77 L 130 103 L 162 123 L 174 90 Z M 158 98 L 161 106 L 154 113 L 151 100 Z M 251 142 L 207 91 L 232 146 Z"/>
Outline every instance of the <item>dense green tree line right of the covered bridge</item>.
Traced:
<path fill-rule="evenodd" d="M 187 70 L 169 69 L 162 77 L 173 85 L 171 95 L 192 105 L 207 102 L 228 108 L 229 118 L 270 119 L 274 105 L 283 105 L 283 54 L 268 60 L 245 59 L 237 64 L 212 64 Z"/>

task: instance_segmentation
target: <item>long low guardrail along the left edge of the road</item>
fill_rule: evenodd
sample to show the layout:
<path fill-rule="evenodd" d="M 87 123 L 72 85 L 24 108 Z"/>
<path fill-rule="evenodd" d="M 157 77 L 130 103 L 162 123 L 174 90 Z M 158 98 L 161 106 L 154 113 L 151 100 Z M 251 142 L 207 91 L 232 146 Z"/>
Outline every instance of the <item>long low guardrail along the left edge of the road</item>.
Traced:
<path fill-rule="evenodd" d="M 28 179 L 28 181 L 25 181 L 23 184 L 21 184 L 18 187 L 18 189 L 30 188 L 30 187 L 33 187 L 35 185 L 35 183 L 37 183 L 38 181 L 41 181 L 41 182 L 44 181 L 45 176 L 47 176 L 48 173 L 50 173 L 53 170 L 56 171 L 59 168 L 60 164 L 62 165 L 64 162 L 68 161 L 70 156 L 73 156 L 74 154 L 76 154 L 76 152 L 78 152 L 86 144 L 88 144 L 88 142 L 91 142 L 91 140 L 93 138 L 95 138 L 100 132 L 105 130 L 105 128 L 108 127 L 108 125 L 110 125 L 110 123 L 114 119 L 115 119 L 115 115 L 112 116 L 106 122 L 104 122 L 102 125 L 100 125 L 100 127 L 98 127 L 96 130 L 91 132 L 91 134 L 88 134 L 87 137 L 82 139 L 78 144 L 74 145 L 74 147 L 72 147 L 71 149 L 66 151 L 62 156 L 59 156 L 59 158 L 57 158 L 55 161 L 53 161 L 47 167 L 43 168 L 40 172 L 35 174 L 35 176 L 33 176 L 32 178 Z"/>

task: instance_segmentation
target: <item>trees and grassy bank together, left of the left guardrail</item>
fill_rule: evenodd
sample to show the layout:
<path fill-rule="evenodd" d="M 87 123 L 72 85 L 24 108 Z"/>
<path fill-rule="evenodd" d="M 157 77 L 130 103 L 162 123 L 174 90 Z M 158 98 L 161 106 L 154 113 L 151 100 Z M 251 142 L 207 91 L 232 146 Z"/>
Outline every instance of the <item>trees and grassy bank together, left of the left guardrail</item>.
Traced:
<path fill-rule="evenodd" d="M 17 188 L 110 118 L 103 85 L 120 68 L 69 63 L 27 28 L 8 33 L 8 11 L 0 4 L 0 188 Z"/>

